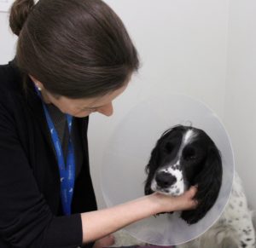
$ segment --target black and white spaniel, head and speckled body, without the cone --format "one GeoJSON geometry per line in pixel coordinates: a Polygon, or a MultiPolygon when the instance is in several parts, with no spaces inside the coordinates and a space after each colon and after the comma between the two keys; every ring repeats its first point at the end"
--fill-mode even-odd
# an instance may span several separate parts
{"type": "MultiPolygon", "coordinates": [[[[214,205],[223,172],[221,155],[212,139],[203,130],[183,125],[167,130],[160,137],[146,171],[145,194],[160,192],[175,196],[197,185],[198,207],[181,213],[189,224],[201,220],[214,205]]],[[[218,222],[200,238],[177,247],[255,247],[252,216],[237,175],[229,204],[218,222]]]]}

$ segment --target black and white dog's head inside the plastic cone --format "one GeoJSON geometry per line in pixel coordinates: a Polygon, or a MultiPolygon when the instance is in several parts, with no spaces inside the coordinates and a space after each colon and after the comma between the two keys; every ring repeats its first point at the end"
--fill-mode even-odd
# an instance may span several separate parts
{"type": "Polygon", "coordinates": [[[198,187],[195,210],[183,211],[189,224],[201,220],[215,203],[222,182],[222,162],[218,148],[203,130],[177,125],[157,141],[146,167],[145,194],[173,196],[190,186],[198,187]]]}

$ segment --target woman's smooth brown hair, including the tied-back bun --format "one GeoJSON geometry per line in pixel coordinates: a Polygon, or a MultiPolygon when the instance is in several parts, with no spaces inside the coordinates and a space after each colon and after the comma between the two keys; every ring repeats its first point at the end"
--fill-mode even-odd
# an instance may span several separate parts
{"type": "Polygon", "coordinates": [[[15,61],[55,95],[86,98],[122,87],[139,66],[117,14],[101,0],[16,0],[15,61]]]}

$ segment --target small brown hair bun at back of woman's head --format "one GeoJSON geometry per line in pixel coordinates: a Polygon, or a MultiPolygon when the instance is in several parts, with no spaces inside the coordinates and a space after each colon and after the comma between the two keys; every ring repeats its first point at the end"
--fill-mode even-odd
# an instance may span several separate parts
{"type": "Polygon", "coordinates": [[[10,9],[9,26],[19,36],[28,14],[34,6],[33,0],[16,0],[10,9]]]}

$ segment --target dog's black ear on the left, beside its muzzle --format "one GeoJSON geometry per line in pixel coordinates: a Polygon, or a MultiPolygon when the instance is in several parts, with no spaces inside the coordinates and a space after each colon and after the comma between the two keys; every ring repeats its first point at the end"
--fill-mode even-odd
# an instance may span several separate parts
{"type": "Polygon", "coordinates": [[[145,172],[148,175],[145,181],[145,187],[144,187],[145,194],[153,193],[153,191],[151,190],[151,182],[154,177],[154,171],[157,170],[157,165],[159,164],[159,157],[160,157],[158,143],[159,141],[157,142],[156,146],[152,150],[149,162],[145,167],[145,172]]]}

